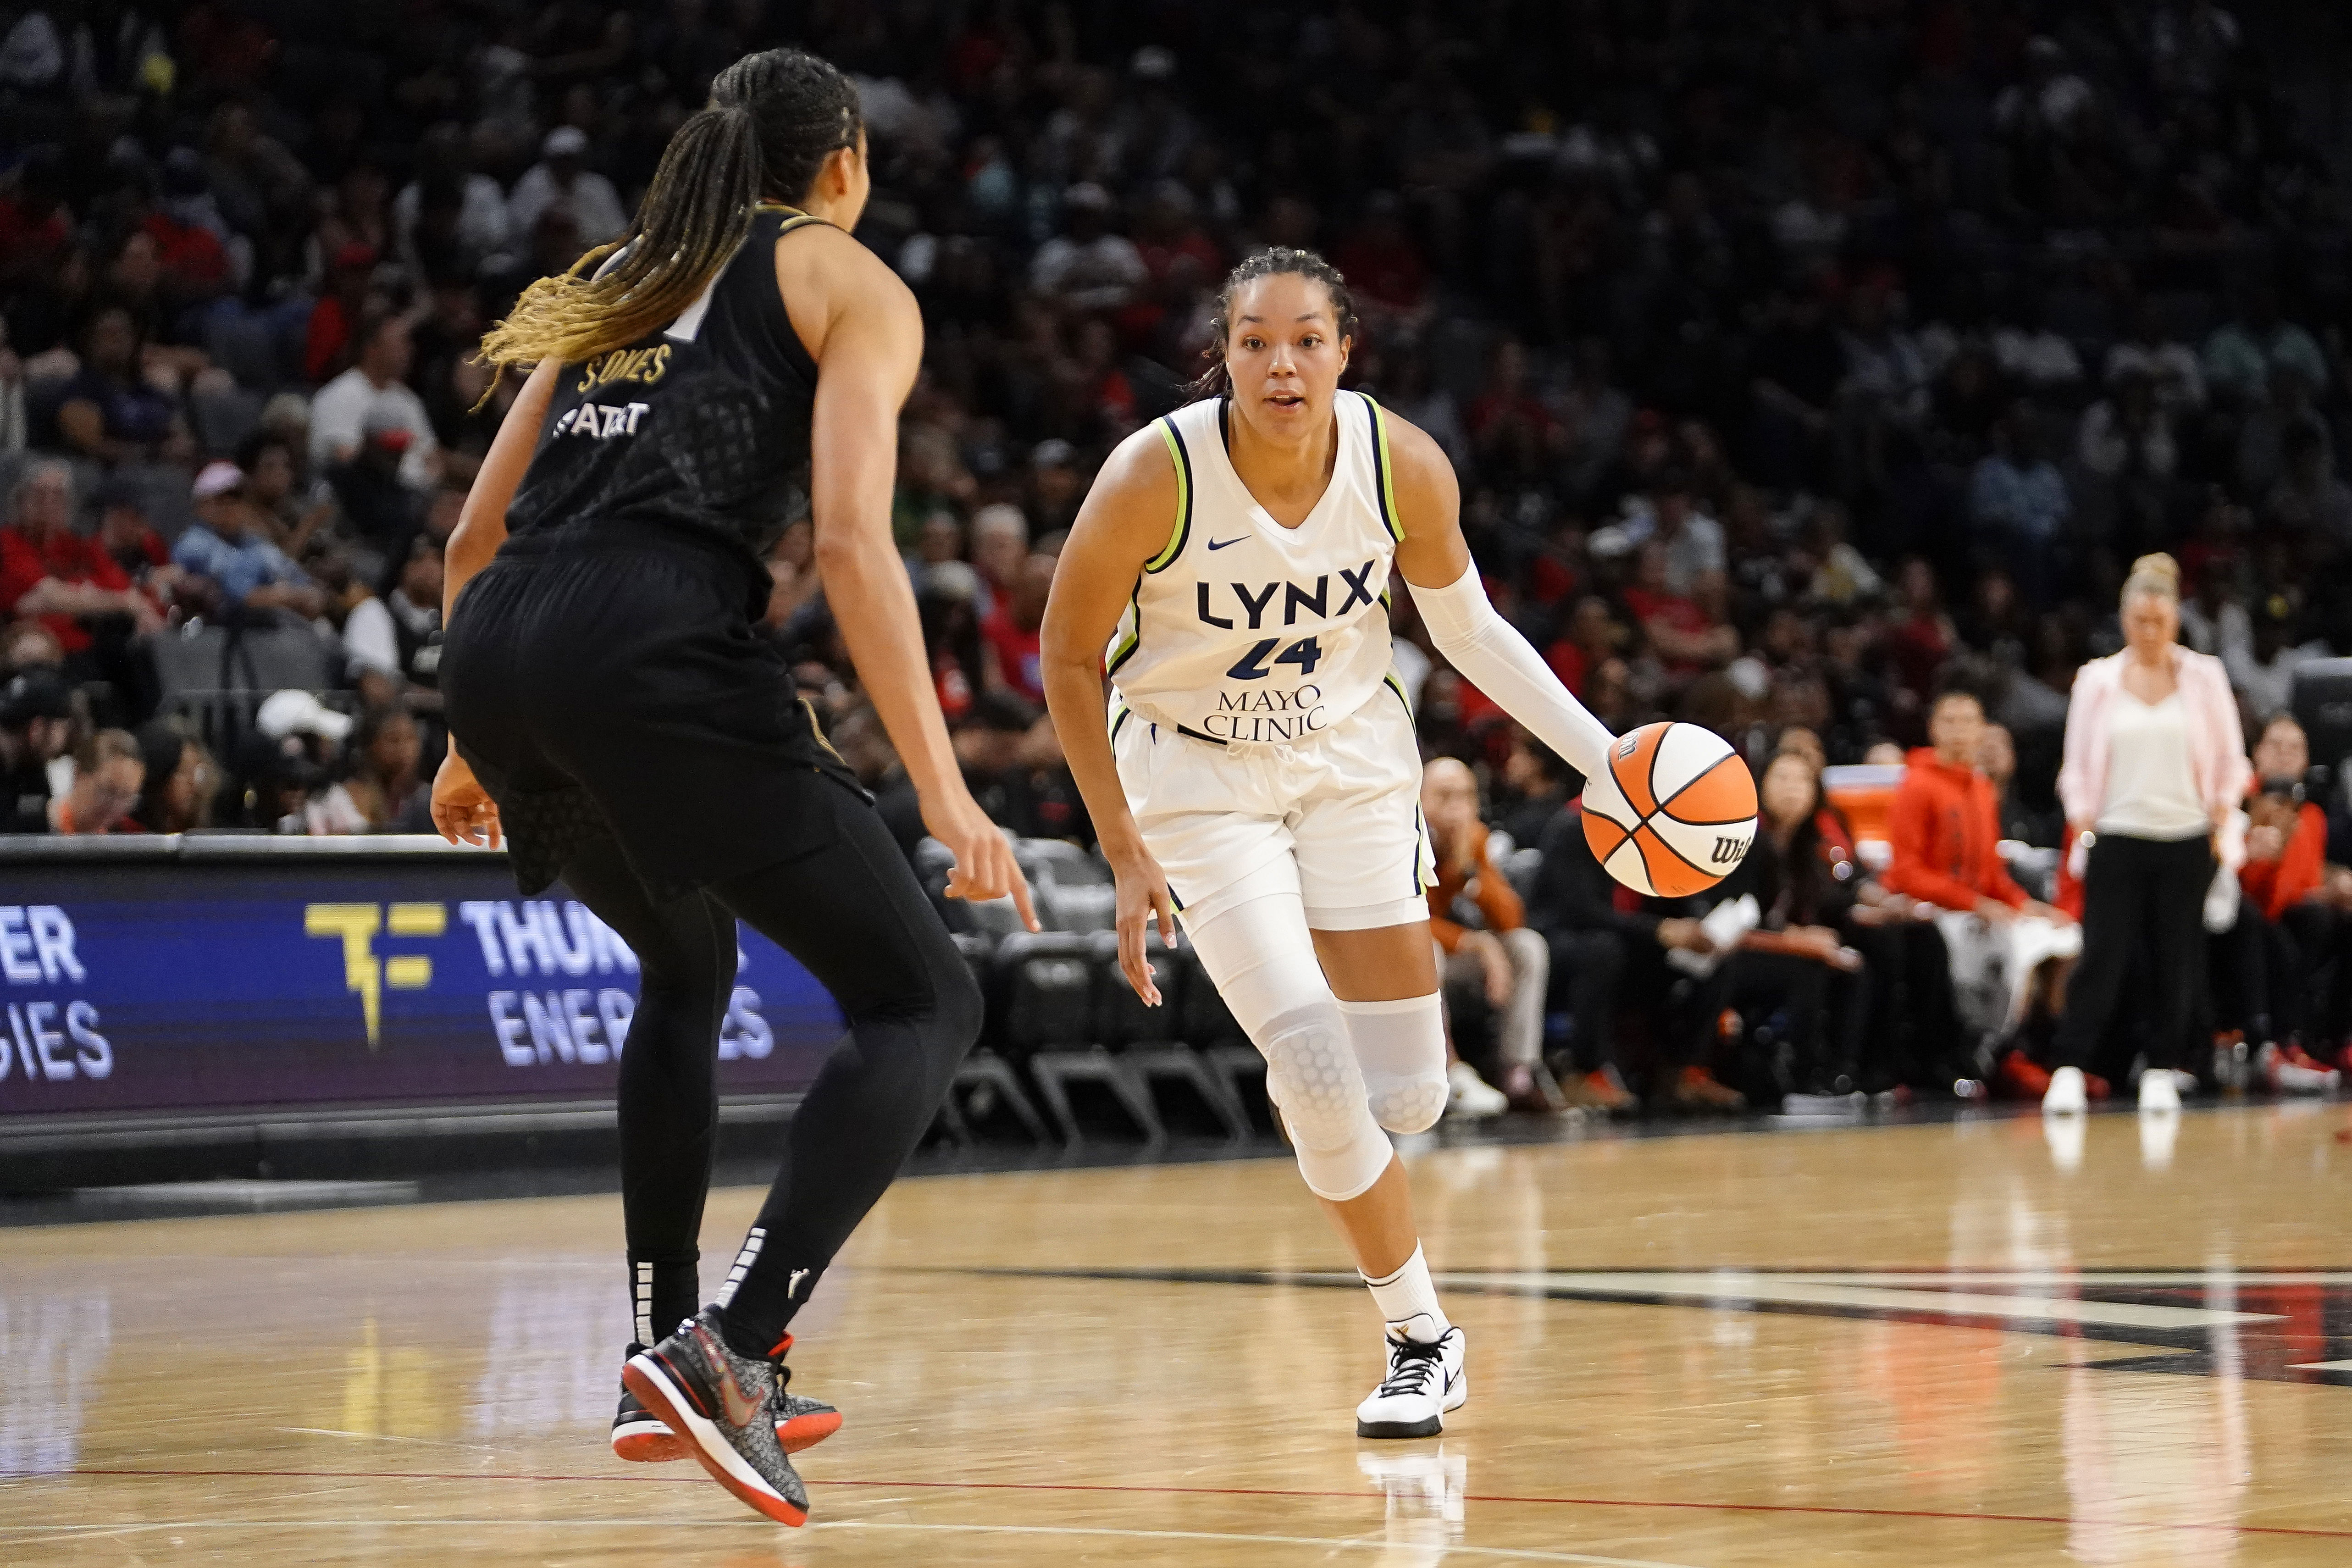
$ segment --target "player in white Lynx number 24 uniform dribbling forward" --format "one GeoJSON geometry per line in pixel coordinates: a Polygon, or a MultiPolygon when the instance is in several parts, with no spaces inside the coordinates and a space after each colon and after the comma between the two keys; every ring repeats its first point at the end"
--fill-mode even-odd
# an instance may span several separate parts
{"type": "Polygon", "coordinates": [[[1352,327],[1310,252],[1232,270],[1216,395],[1120,444],[1070,529],[1044,686],[1117,872],[1120,966],[1157,1004],[1143,931],[1174,943],[1181,914],[1388,1324],[1357,1434],[1430,1436],[1468,1380],[1385,1135],[1446,1103],[1392,576],[1454,668],[1585,776],[1611,733],[1486,602],[1437,442],[1338,388],[1352,327]]]}

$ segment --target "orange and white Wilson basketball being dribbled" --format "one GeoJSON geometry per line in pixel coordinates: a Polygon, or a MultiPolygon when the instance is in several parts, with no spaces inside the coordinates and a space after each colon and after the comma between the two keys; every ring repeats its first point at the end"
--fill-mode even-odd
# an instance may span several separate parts
{"type": "Polygon", "coordinates": [[[1635,893],[1684,898],[1731,875],[1757,837],[1757,780],[1712,729],[1644,724],[1585,783],[1585,844],[1635,893]]]}

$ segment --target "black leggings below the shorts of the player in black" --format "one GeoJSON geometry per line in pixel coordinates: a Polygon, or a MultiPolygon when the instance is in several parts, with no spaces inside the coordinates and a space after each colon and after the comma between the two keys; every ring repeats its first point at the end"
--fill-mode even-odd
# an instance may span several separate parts
{"type": "Polygon", "coordinates": [[[833,799],[830,844],[670,900],[644,889],[612,837],[564,860],[564,882],[640,964],[621,1051],[621,1206],[654,1335],[699,1305],[736,917],[800,959],[849,1020],[783,1133],[783,1168],[724,1293],[727,1340],[741,1354],[774,1354],[981,1032],[978,985],[882,820],[847,790],[821,799],[833,799]]]}

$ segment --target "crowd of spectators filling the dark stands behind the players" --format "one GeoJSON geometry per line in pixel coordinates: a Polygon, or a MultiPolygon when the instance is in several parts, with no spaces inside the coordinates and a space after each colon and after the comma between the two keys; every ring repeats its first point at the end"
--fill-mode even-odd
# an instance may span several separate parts
{"type": "MultiPolygon", "coordinates": [[[[1818,795],[1823,764],[1931,748],[1957,682],[1999,743],[1947,766],[2002,769],[2002,832],[2056,846],[2070,682],[2119,646],[2136,555],[2178,555],[2183,642],[2225,661],[2249,736],[2298,665],[2352,651],[2345,61],[2314,16],[0,5],[12,820],[421,825],[445,745],[440,548],[513,397],[470,346],[529,280],[626,230],[720,66],[800,42],[858,80],[858,233],[924,308],[894,527],[960,755],[1007,827],[1089,842],[1037,623],[1094,468],[1185,395],[1223,270],[1305,244],[1355,292],[1350,381],[1454,456],[1496,604],[1606,724],[1700,722],[1766,797],[1780,755],[1818,795]],[[191,661],[158,649],[207,635],[310,637],[322,677],[306,703],[198,701],[191,661]]],[[[807,524],[771,574],[769,632],[913,839],[807,524]]],[[[1428,651],[1409,607],[1397,630],[1425,755],[1465,764],[1519,846],[1548,844],[1576,780],[1428,651]]],[[[1820,860],[1813,816],[1773,820],[1766,863],[1820,860]]],[[[1613,1032],[1590,1020],[1703,938],[1569,860],[1545,856],[1526,900],[1541,952],[1479,940],[1465,907],[1451,969],[1508,1016],[1498,1072],[1524,1091],[1541,1063],[1505,980],[1548,959],[1545,1041],[1613,1105],[1613,1032]]],[[[1907,931],[1933,922],[1903,893],[1846,907],[1844,882],[1795,882],[1797,929],[1922,969],[1907,931]]],[[[1816,990],[1799,1016],[1863,994],[1816,990]]],[[[1891,1027],[1886,994],[1853,1006],[1891,1027]]],[[[1698,1098],[1684,1070],[1715,1027],[1656,1030],[1698,1098]]],[[[1886,1037],[1846,1027],[1813,1032],[1886,1037]]],[[[1851,1079],[1842,1051],[1813,1077],[1851,1079]]]]}

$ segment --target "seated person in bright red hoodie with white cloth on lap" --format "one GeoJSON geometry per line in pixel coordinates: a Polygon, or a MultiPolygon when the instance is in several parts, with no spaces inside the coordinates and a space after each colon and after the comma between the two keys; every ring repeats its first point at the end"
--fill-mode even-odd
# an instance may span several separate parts
{"type": "Polygon", "coordinates": [[[1973,691],[1943,691],[1926,733],[1931,745],[1905,759],[1886,813],[1893,863],[1879,882],[1936,905],[1962,1020],[1999,1053],[2002,1084],[2039,1098],[2049,1072],[2016,1039],[2027,1018],[2060,1013],[2067,971],[2082,957],[2082,926],[2027,896],[2002,863],[1999,802],[1976,766],[1983,701],[1973,691]]]}

